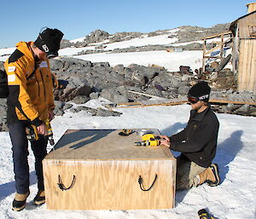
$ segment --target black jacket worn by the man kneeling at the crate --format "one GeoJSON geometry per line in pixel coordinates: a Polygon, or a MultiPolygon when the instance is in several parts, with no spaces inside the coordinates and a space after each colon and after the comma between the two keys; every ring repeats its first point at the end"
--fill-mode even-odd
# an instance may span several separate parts
{"type": "Polygon", "coordinates": [[[208,167],[216,154],[218,127],[218,118],[211,107],[200,113],[191,110],[186,128],[170,137],[171,149],[195,164],[208,167]]]}

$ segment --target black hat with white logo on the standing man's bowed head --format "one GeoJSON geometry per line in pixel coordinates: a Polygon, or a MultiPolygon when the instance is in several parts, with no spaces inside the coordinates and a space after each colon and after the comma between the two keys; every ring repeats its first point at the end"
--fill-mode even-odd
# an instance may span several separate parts
{"type": "Polygon", "coordinates": [[[58,29],[46,28],[41,32],[34,42],[38,49],[44,51],[48,57],[58,56],[58,50],[60,49],[61,38],[63,33],[58,29]]]}

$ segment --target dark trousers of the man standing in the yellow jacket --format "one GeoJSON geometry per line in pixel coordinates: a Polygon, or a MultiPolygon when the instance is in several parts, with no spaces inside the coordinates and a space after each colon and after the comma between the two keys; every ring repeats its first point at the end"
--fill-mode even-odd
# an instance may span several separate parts
{"type": "MultiPolygon", "coordinates": [[[[9,135],[12,141],[13,162],[15,170],[15,187],[17,193],[29,191],[29,166],[27,162],[28,141],[26,139],[26,124],[9,124],[9,135]]],[[[35,170],[38,176],[38,190],[44,190],[43,164],[42,160],[47,154],[47,139],[39,135],[38,141],[32,141],[32,152],[35,156],[35,170]]]]}

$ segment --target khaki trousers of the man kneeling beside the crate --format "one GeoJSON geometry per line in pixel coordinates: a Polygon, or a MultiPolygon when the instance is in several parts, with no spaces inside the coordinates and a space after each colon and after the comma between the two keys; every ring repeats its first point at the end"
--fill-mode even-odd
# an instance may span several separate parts
{"type": "Polygon", "coordinates": [[[176,190],[188,189],[197,187],[199,179],[196,177],[207,168],[189,161],[183,156],[177,157],[177,175],[176,175],[176,190]]]}

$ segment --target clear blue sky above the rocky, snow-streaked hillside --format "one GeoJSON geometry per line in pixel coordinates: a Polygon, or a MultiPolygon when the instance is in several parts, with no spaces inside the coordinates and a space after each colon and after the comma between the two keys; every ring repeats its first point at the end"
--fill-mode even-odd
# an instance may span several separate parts
{"type": "Polygon", "coordinates": [[[64,32],[64,38],[84,37],[96,29],[154,32],[178,26],[211,27],[247,14],[246,0],[16,0],[1,1],[0,48],[34,41],[41,28],[64,32]]]}

